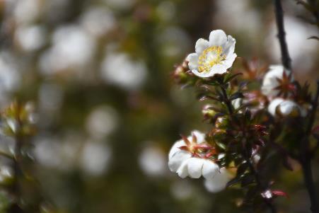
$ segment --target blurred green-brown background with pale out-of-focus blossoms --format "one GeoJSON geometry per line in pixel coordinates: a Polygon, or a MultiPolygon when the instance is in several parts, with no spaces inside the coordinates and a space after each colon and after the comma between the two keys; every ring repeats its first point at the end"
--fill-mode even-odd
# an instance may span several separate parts
{"type": "MultiPolygon", "coordinates": [[[[219,28],[236,38],[239,57],[280,63],[271,3],[0,0],[0,107],[18,98],[37,108],[33,175],[45,199],[59,212],[240,212],[239,191],[212,194],[168,171],[179,134],[209,127],[195,92],[171,72],[219,28]]],[[[296,1],[283,3],[296,79],[313,83],[319,42],[307,38],[318,28],[296,1]]],[[[295,167],[278,174],[290,196],[277,200],[282,212],[308,207],[295,167]]]]}

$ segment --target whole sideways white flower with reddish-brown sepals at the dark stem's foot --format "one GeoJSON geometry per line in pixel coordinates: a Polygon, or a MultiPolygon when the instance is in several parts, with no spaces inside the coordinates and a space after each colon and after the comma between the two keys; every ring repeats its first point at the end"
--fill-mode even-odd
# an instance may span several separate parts
{"type": "Polygon", "coordinates": [[[282,65],[272,65],[262,81],[262,93],[268,97],[276,97],[279,93],[289,91],[293,81],[291,71],[286,70],[282,65]]]}

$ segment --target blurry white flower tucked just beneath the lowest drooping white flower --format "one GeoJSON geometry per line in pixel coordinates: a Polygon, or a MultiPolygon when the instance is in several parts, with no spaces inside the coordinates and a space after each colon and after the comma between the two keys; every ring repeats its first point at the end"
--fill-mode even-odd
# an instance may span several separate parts
{"type": "Polygon", "coordinates": [[[226,188],[226,184],[231,180],[231,175],[226,168],[221,168],[214,178],[207,178],[204,182],[205,188],[209,192],[220,192],[226,188]]]}

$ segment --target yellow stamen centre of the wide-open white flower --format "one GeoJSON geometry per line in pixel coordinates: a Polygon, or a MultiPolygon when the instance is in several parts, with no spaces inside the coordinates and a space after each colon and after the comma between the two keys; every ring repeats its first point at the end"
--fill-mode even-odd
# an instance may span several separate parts
{"type": "Polygon", "coordinates": [[[198,59],[198,71],[208,72],[211,67],[216,64],[221,64],[226,59],[223,54],[223,47],[213,46],[205,49],[198,59]]]}

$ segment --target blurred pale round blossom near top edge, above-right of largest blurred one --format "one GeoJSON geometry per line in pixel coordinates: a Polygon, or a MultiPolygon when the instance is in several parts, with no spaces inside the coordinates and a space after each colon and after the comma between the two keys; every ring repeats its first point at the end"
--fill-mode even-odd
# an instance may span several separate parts
{"type": "Polygon", "coordinates": [[[89,8],[81,16],[83,27],[92,35],[100,37],[115,27],[116,21],[112,11],[108,8],[89,8]]]}

